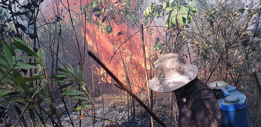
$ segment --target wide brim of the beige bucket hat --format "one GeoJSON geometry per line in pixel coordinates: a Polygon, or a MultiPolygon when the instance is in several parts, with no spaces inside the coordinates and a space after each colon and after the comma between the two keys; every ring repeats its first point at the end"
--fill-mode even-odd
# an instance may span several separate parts
{"type": "Polygon", "coordinates": [[[168,93],[185,86],[198,76],[198,67],[191,64],[185,64],[186,70],[184,73],[178,77],[168,80],[159,80],[152,78],[149,80],[149,88],[153,91],[160,93],[168,93]]]}

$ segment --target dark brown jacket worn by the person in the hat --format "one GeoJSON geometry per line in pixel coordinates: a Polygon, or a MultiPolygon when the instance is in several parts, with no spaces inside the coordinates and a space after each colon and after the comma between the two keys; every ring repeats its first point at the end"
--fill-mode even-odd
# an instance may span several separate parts
{"type": "Polygon", "coordinates": [[[181,93],[179,90],[175,92],[179,108],[178,126],[221,127],[223,117],[214,93],[208,89],[199,90],[192,96],[191,108],[189,108],[187,102],[183,102],[182,98],[186,98],[186,92],[190,87],[191,83],[184,86],[184,88],[180,88],[181,93]]]}

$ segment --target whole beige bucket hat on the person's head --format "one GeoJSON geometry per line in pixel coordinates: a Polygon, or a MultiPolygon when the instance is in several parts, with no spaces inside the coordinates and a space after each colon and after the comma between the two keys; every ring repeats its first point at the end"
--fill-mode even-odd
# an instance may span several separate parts
{"type": "Polygon", "coordinates": [[[155,62],[156,76],[149,80],[153,91],[167,93],[185,86],[198,76],[198,67],[185,64],[175,53],[161,56],[155,62]]]}

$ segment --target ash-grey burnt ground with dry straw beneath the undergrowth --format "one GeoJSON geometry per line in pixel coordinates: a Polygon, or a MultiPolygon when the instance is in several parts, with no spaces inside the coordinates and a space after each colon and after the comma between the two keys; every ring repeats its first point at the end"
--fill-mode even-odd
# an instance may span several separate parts
{"type": "MultiPolygon", "coordinates": [[[[147,96],[144,94],[138,95],[138,97],[141,99],[141,101],[146,102],[147,104],[147,96]]],[[[133,105],[130,101],[130,97],[127,98],[127,95],[115,95],[115,94],[106,94],[103,95],[104,99],[104,109],[102,105],[102,99],[101,97],[98,97],[95,99],[94,107],[95,107],[95,114],[96,119],[95,123],[93,124],[93,117],[91,107],[85,108],[81,110],[81,113],[78,112],[71,112],[74,108],[73,103],[70,103],[70,99],[66,98],[69,114],[67,114],[64,111],[64,105],[61,101],[61,99],[57,99],[57,107],[58,107],[58,113],[60,115],[61,125],[64,127],[72,127],[77,126],[79,127],[80,122],[82,127],[101,127],[101,126],[110,126],[110,127],[149,127],[150,126],[150,114],[145,111],[143,107],[137,101],[135,101],[135,117],[133,118],[133,105]],[[129,101],[128,101],[129,98],[129,101]],[[129,103],[128,103],[129,102],[129,103]],[[81,120],[76,120],[80,114],[85,113],[85,117],[83,117],[81,120]],[[103,112],[104,112],[104,119],[103,118],[103,112]],[[104,122],[104,124],[103,124],[104,122]],[[73,125],[72,125],[73,123],[73,125]]],[[[171,113],[171,107],[170,107],[170,94],[169,93],[160,93],[155,95],[154,98],[154,105],[153,105],[153,112],[156,114],[156,116],[161,119],[166,126],[168,127],[176,127],[177,126],[177,116],[178,116],[178,109],[176,107],[175,101],[173,101],[173,108],[171,113]]],[[[252,105],[251,97],[249,97],[249,104],[252,105]]],[[[17,105],[16,103],[9,103],[9,117],[7,119],[4,119],[3,123],[0,124],[0,126],[7,127],[8,125],[14,125],[18,115],[17,112],[14,109],[14,105],[17,105]]],[[[3,107],[6,107],[6,105],[2,105],[3,107]]],[[[50,112],[48,105],[42,105],[44,109],[48,112],[50,112]]],[[[251,117],[251,123],[253,126],[261,126],[261,119],[255,110],[256,105],[254,106],[248,106],[250,109],[250,117],[251,117]]],[[[258,107],[258,106],[257,106],[258,107]]],[[[260,108],[260,107],[259,107],[260,108]]],[[[44,115],[44,113],[43,113],[44,115]]],[[[43,116],[44,119],[47,119],[48,117],[46,115],[43,116]]],[[[30,118],[28,113],[25,113],[25,119],[28,126],[32,126],[30,118]]],[[[57,118],[54,116],[54,119],[57,120],[57,118]]],[[[37,120],[37,119],[36,119],[37,120]]],[[[37,126],[41,126],[39,121],[37,122],[37,126]]],[[[18,124],[19,126],[23,126],[21,120],[18,124]]],[[[50,120],[50,118],[45,123],[46,126],[52,127],[54,126],[50,120]]],[[[154,120],[154,126],[160,127],[161,125],[158,124],[154,120]]]]}

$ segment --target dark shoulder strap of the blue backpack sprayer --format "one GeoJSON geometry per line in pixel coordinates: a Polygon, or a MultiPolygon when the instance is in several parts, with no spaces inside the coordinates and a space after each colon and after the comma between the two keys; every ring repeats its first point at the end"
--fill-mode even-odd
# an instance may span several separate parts
{"type": "Polygon", "coordinates": [[[216,96],[217,98],[217,93],[216,91],[210,89],[207,85],[205,85],[203,82],[201,83],[195,83],[188,91],[187,93],[187,106],[188,108],[191,108],[192,104],[191,104],[191,99],[192,97],[199,91],[199,90],[204,90],[204,89],[208,89],[208,90],[211,90],[214,95],[216,96]]]}

